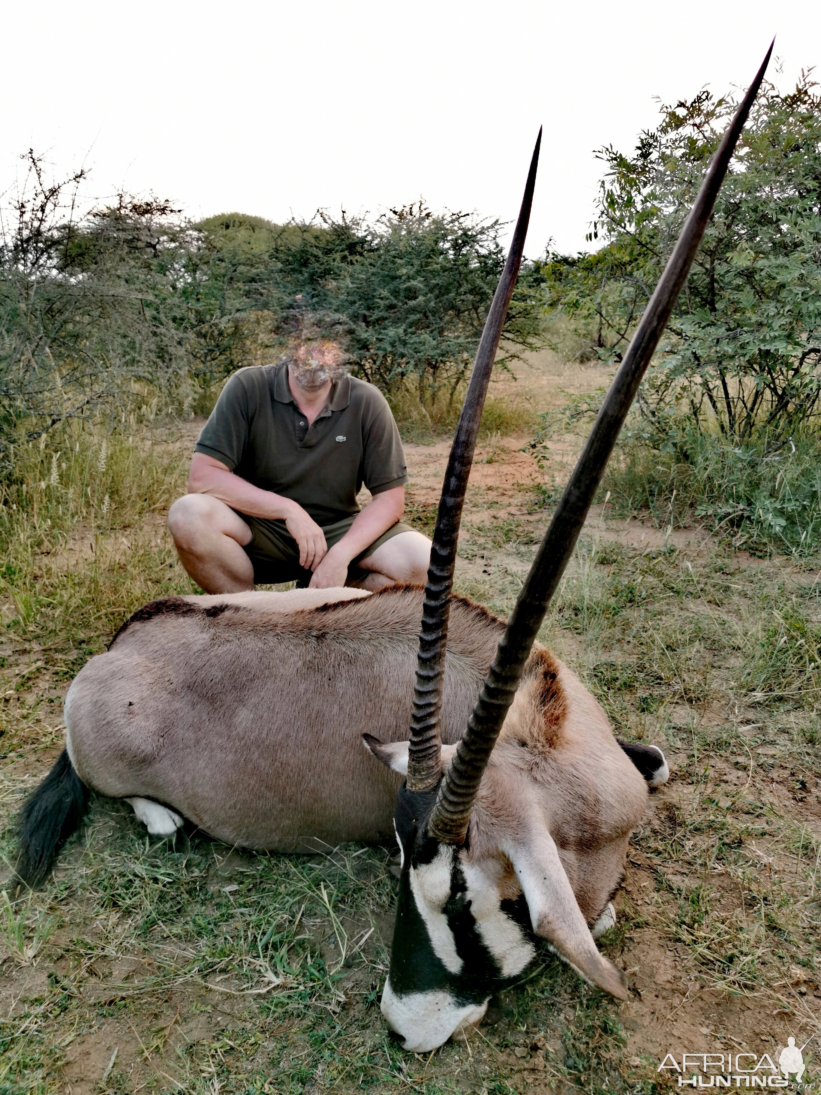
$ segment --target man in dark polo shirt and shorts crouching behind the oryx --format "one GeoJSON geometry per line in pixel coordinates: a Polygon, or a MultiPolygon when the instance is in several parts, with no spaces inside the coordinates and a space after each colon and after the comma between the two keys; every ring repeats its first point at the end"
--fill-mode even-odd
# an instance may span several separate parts
{"type": "Polygon", "coordinates": [[[180,560],[207,592],[426,580],[430,541],[400,520],[407,470],[393,415],[342,362],[334,342],[297,341],[286,361],[226,384],[189,493],[169,511],[180,560]],[[373,497],[360,510],[362,483],[373,497]]]}

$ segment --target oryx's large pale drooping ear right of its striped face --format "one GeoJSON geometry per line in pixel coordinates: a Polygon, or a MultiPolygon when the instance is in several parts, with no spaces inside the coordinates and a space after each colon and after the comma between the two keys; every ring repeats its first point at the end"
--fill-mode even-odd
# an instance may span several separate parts
{"type": "Polygon", "coordinates": [[[577,972],[618,1000],[627,999],[624,973],[599,954],[581,914],[558,851],[546,827],[527,844],[508,850],[536,935],[547,940],[577,972]]]}

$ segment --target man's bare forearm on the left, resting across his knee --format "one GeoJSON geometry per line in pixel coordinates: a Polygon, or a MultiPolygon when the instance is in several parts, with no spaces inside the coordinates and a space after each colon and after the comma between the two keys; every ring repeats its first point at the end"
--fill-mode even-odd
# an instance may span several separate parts
{"type": "MultiPolygon", "coordinates": [[[[273,491],[261,491],[259,487],[239,475],[234,475],[226,464],[205,452],[195,452],[192,457],[188,494],[210,494],[213,498],[224,502],[232,509],[239,510],[240,514],[247,514],[248,517],[266,517],[269,520],[285,521],[286,528],[299,545],[299,565],[305,569],[315,570],[325,557],[327,552],[325,534],[299,503],[274,494],[273,491]]],[[[389,527],[385,526],[385,528],[389,527]]],[[[348,535],[352,531],[354,527],[351,526],[348,535]]],[[[362,546],[367,548],[368,543],[372,543],[384,531],[385,529],[382,529],[362,546]]],[[[360,548],[359,551],[361,550],[360,548]]],[[[358,553],[354,552],[354,555],[358,553]]],[[[354,555],[350,557],[352,558],[354,555]]],[[[342,585],[345,583],[343,581],[342,585]]]]}

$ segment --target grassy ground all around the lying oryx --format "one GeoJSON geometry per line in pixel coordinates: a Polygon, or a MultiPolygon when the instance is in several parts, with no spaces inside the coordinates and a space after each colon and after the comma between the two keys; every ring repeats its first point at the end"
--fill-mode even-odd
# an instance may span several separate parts
{"type": "MultiPolygon", "coordinates": [[[[59,749],[68,681],[140,603],[193,589],[162,527],[188,442],[114,436],[102,460],[101,437],[77,440],[56,484],[65,441],[22,452],[26,489],[0,509],[7,861],[14,814],[59,749]]],[[[506,613],[547,514],[494,516],[487,500],[469,496],[458,588],[506,613]]],[[[433,507],[414,505],[428,528],[433,507]]],[[[821,586],[784,560],[591,533],[542,637],[620,735],[672,760],[601,944],[632,970],[629,1004],[543,947],[470,1046],[404,1053],[379,1013],[393,849],[273,856],[196,833],[171,846],[95,798],[44,889],[0,903],[0,1092],[650,1095],[666,1086],[658,1054],[632,1038],[635,1024],[637,1037],[656,1029],[641,1008],[659,992],[654,1022],[670,1039],[678,1016],[759,1051],[775,1048],[768,1036],[806,1040],[821,995],[821,586]],[[669,988],[644,972],[659,953],[669,988]]]]}

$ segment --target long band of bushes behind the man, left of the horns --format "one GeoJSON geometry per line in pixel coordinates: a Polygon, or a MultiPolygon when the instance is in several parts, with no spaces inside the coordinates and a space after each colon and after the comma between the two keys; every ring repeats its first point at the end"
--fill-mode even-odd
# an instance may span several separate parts
{"type": "MultiPolygon", "coordinates": [[[[14,474],[14,446],[76,418],[208,411],[235,369],[276,359],[303,309],[389,393],[413,382],[419,401],[444,391],[450,405],[470,370],[505,261],[499,221],[419,203],[373,222],[192,224],[124,195],[80,216],[84,172],[48,182],[27,162],[0,234],[0,474],[14,474]]],[[[539,344],[537,285],[525,269],[508,357],[539,344]]]]}

